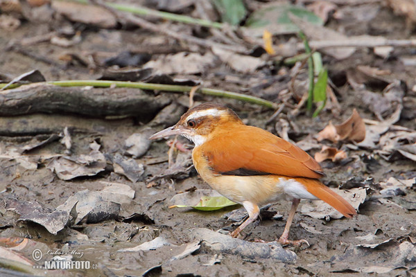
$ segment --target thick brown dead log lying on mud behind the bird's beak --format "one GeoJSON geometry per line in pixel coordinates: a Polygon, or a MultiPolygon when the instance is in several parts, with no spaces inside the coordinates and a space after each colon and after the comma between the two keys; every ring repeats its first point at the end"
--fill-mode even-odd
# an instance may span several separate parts
{"type": "Polygon", "coordinates": [[[139,89],[58,87],[34,83],[0,91],[0,116],[33,113],[81,114],[85,116],[146,116],[169,104],[139,89]]]}

